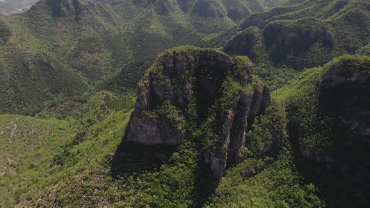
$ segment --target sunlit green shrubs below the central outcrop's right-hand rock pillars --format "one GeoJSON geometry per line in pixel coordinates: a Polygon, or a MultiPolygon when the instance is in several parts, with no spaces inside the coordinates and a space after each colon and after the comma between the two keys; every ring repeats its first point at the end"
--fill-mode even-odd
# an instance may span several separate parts
{"type": "Polygon", "coordinates": [[[246,159],[230,168],[209,207],[325,207],[314,184],[303,184],[291,145],[276,157],[246,159]]]}

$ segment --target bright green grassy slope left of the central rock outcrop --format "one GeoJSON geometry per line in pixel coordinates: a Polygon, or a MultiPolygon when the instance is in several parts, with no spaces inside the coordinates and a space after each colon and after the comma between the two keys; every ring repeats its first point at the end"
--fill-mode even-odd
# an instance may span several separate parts
{"type": "Polygon", "coordinates": [[[0,205],[48,196],[54,186],[84,173],[107,173],[107,159],[129,122],[131,102],[99,92],[82,103],[63,101],[36,118],[2,115],[0,205]],[[53,118],[64,111],[68,111],[67,118],[53,118]]]}

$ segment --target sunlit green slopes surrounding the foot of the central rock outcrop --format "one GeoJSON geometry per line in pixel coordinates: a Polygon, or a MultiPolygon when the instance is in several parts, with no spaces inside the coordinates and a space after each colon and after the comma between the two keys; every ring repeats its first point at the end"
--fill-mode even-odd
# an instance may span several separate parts
{"type": "MultiPolygon", "coordinates": [[[[323,123],[311,116],[319,115],[315,92],[322,74],[323,69],[309,69],[296,83],[273,94],[286,102],[289,126],[292,122],[308,125],[303,128],[306,135],[323,123]],[[300,116],[294,116],[294,107],[300,116]]],[[[281,107],[273,105],[259,116],[251,137],[264,139],[263,129],[275,126],[270,116],[284,114],[281,107]]],[[[258,157],[258,144],[248,147],[248,158],[216,181],[203,163],[199,131],[176,148],[122,141],[131,108],[127,98],[99,92],[88,101],[75,98],[54,103],[36,118],[1,116],[2,155],[6,155],[1,161],[1,205],[321,207],[338,202],[348,205],[356,198],[353,191],[360,190],[350,188],[343,175],[333,177],[330,171],[315,179],[315,173],[301,166],[295,154],[293,132],[289,132],[293,140],[274,153],[258,157]],[[335,180],[325,179],[330,175],[335,180]]],[[[317,148],[315,142],[321,140],[310,138],[300,140],[317,148]]],[[[328,146],[322,143],[321,148],[323,144],[328,146]]],[[[356,166],[357,157],[351,158],[348,162],[356,166]]],[[[305,164],[317,167],[309,161],[305,164]]]]}

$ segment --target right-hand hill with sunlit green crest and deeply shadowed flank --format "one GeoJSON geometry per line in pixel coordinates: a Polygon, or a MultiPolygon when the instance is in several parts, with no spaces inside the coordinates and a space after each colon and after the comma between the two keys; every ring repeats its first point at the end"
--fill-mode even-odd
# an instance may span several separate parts
{"type": "Polygon", "coordinates": [[[369,205],[370,57],[345,55],[274,92],[307,180],[330,207],[369,205]]]}

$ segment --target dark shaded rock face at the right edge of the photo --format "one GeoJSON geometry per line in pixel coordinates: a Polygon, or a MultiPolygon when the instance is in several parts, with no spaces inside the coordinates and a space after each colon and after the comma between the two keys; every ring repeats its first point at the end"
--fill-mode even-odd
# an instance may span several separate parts
{"type": "Polygon", "coordinates": [[[330,66],[323,75],[320,87],[323,92],[345,101],[335,105],[346,109],[338,112],[337,116],[348,136],[370,144],[370,66],[351,62],[353,60],[330,66]],[[345,98],[351,100],[346,101],[345,98]]]}

